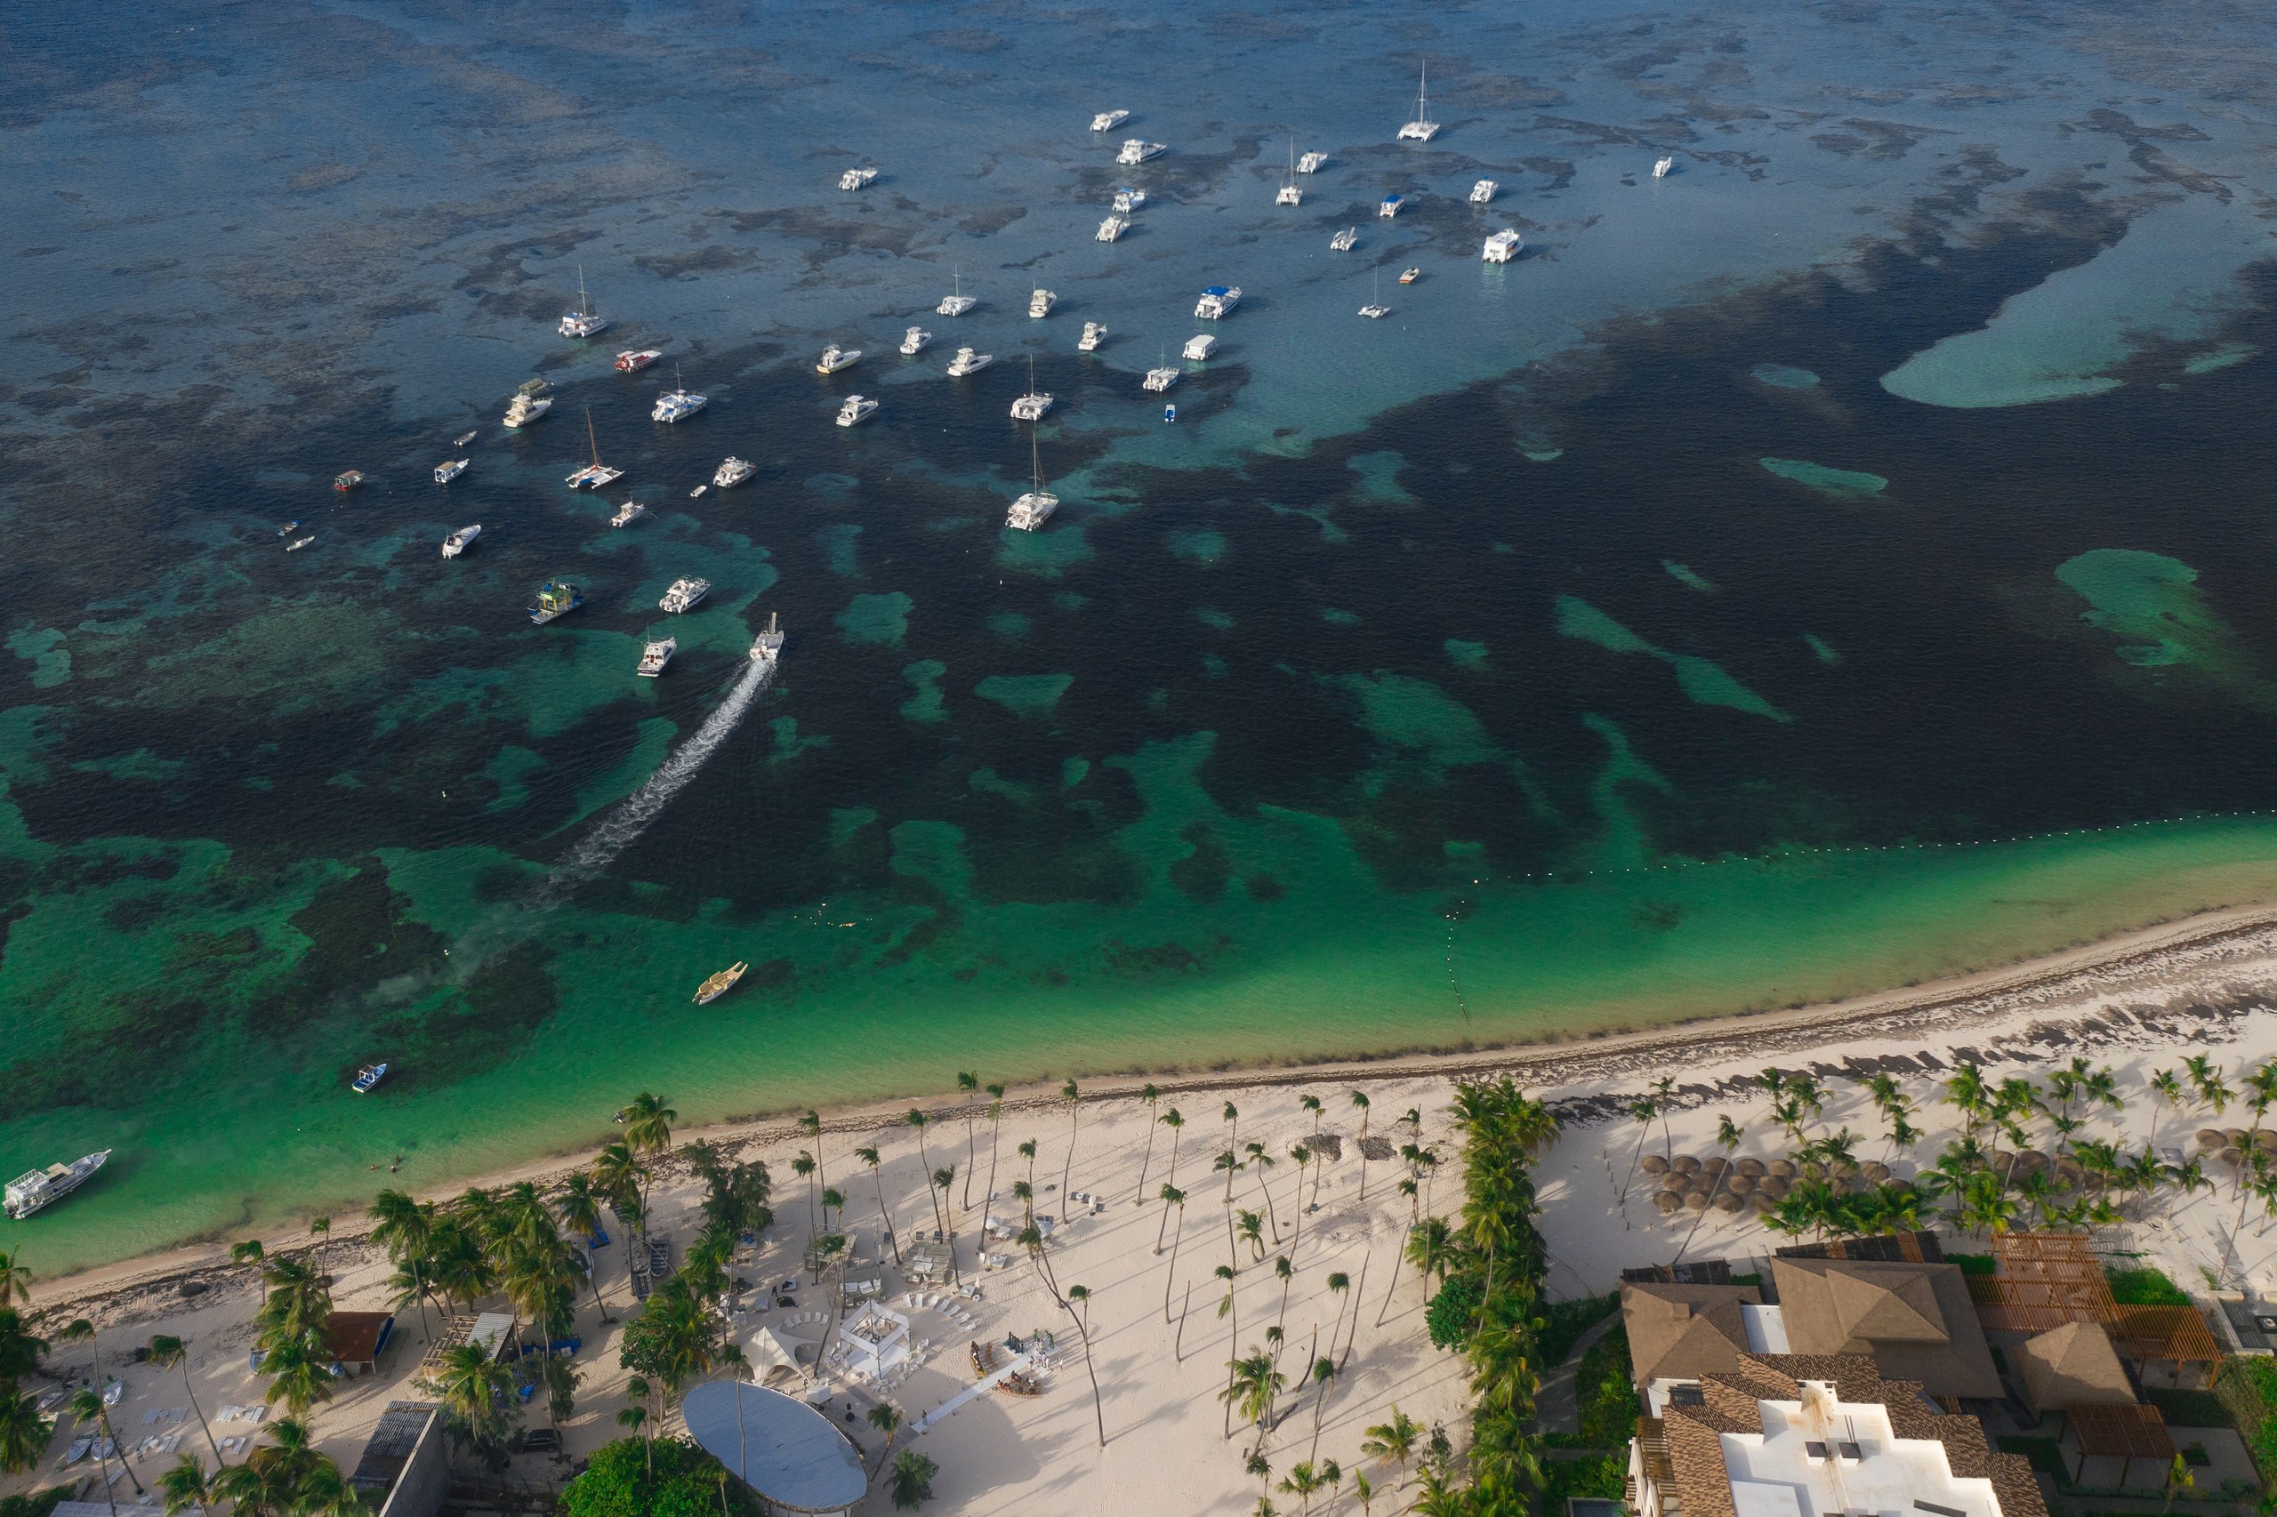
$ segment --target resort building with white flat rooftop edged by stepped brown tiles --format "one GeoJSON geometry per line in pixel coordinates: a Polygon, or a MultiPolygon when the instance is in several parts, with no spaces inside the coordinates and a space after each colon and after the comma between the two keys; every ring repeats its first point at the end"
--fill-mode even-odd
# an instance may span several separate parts
{"type": "Polygon", "coordinates": [[[1938,1412],[1865,1355],[1742,1353],[1644,1417],[1630,1444],[1635,1517],[2047,1517],[2022,1456],[1974,1417],[1938,1412]]]}

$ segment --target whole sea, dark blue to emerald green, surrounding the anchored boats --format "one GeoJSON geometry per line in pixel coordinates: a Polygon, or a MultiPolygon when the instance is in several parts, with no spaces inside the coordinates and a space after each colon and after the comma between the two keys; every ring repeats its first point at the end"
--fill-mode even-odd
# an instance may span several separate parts
{"type": "Polygon", "coordinates": [[[1571,1036],[2277,895],[2236,815],[2272,339],[2222,198],[2263,130],[2079,105],[2145,89],[2093,20],[1956,14],[2031,89],[1781,7],[1457,20],[14,32],[0,1168],[116,1157],[0,1239],[52,1271],[446,1184],[640,1086],[701,1121],[1571,1036]],[[1102,55],[1173,144],[1138,171],[1082,130],[1102,55]],[[1446,130],[1396,148],[1425,55],[1446,130]],[[1298,214],[1291,130],[1332,155],[1298,214]],[[1528,255],[1487,266],[1501,223],[1528,255]],[[553,337],[581,266],[594,344],[553,337]],[[1136,378],[1205,282],[1248,296],[1164,426],[1136,378]],[[710,408],[647,421],[669,378],[619,342],[710,408]],[[868,358],[820,378],[824,342],[868,358]],[[1004,362],[952,385],[956,342],[1004,362]],[[1029,353],[1036,535],[997,526],[1029,353]],[[531,371],[556,417],[508,435],[531,371]],[[856,387],[881,415],[833,428],[856,387]],[[606,497],[560,483],[587,410],[606,497]],[[690,497],[729,451],[754,481],[690,497]],[[533,629],[553,576],[585,608],[533,629]]]}

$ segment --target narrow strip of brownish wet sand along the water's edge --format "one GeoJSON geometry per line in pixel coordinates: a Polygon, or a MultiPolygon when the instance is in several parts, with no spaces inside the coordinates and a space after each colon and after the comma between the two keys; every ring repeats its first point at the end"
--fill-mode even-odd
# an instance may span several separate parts
{"type": "MultiPolygon", "coordinates": [[[[2225,970],[2236,973],[2247,966],[2277,970],[2277,907],[2220,907],[2052,954],[1803,1007],[1692,1016],[1639,1030],[1592,1030],[1564,1039],[1505,1046],[1362,1052],[1287,1064],[1227,1064],[1207,1071],[1113,1071],[1102,1075],[1077,1071],[1075,1080],[1077,1084],[1102,1082],[1082,1089],[1079,1100],[1086,1107],[1132,1100],[1143,1084],[1154,1084],[1166,1098],[1302,1084],[1364,1086],[1416,1077],[1460,1082],[1498,1075],[1512,1075],[1530,1089],[1569,1089],[1621,1080],[1639,1071],[1696,1068],[1731,1059],[1742,1048],[1753,1050],[1751,1057],[1760,1055],[1772,1061],[1781,1052],[1822,1046],[1835,1032],[1844,1039],[1890,1039],[1924,1027],[1951,1034],[1976,1020],[2013,1016],[2022,1007],[2047,1002],[2049,1009],[2056,1009],[2056,1002],[2065,998],[2113,995],[2131,986],[2145,1000],[2218,998],[2225,993],[2225,970]],[[1683,1064],[1671,1064],[1671,1055],[1683,1055],[1683,1064]],[[1555,1080],[1546,1080],[1553,1071],[1555,1080]]],[[[822,1114],[822,1125],[824,1132],[833,1134],[877,1132],[899,1123],[911,1109],[922,1109],[929,1121],[961,1121],[972,1105],[972,1100],[947,1098],[938,1089],[902,1093],[833,1107],[822,1114]]],[[[1050,1082],[1016,1084],[1004,1096],[1006,1114],[1054,1105],[1063,1105],[1063,1096],[1050,1082]]],[[[731,1148],[781,1143],[795,1132],[790,1116],[790,1112],[733,1116],[685,1128],[676,1132],[676,1141],[710,1141],[731,1148]]],[[[587,1162],[594,1148],[597,1143],[558,1148],[524,1164],[462,1175],[446,1187],[424,1187],[424,1194],[444,1198],[469,1184],[549,1182],[587,1162]]],[[[669,1162],[665,1168],[674,1166],[676,1162],[669,1162]]],[[[148,1301],[180,1292],[182,1282],[189,1280],[212,1289],[237,1276],[250,1278],[246,1266],[230,1260],[230,1248],[257,1237],[271,1257],[310,1250],[317,1241],[305,1232],[305,1219],[307,1214],[296,1216],[303,1223],[298,1232],[246,1228],[225,1237],[41,1278],[32,1287],[32,1314],[41,1319],[89,1303],[148,1301]]],[[[321,1244],[337,1250],[360,1244],[364,1232],[364,1225],[337,1225],[321,1244]]],[[[16,1246],[23,1248],[27,1241],[34,1239],[16,1239],[16,1246]]]]}

